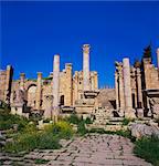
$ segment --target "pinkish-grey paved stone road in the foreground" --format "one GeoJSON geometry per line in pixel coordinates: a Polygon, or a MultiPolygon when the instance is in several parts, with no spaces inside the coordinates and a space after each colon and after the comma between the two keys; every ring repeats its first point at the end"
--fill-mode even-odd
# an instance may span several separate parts
{"type": "MultiPolygon", "coordinates": [[[[63,142],[56,151],[34,151],[25,155],[24,166],[33,166],[34,159],[49,159],[43,166],[151,166],[132,154],[132,143],[117,135],[92,134],[72,142],[63,142]]],[[[23,165],[19,160],[19,165],[23,165]]]]}

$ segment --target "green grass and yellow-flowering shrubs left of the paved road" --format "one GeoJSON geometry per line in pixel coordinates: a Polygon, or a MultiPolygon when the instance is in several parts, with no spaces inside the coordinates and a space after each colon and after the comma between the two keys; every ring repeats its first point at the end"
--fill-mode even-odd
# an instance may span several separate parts
{"type": "Polygon", "coordinates": [[[74,132],[67,122],[50,124],[44,131],[38,131],[35,125],[26,125],[21,132],[13,136],[13,142],[7,143],[4,151],[17,154],[19,152],[31,152],[38,149],[60,148],[60,139],[68,139],[74,132]]]}

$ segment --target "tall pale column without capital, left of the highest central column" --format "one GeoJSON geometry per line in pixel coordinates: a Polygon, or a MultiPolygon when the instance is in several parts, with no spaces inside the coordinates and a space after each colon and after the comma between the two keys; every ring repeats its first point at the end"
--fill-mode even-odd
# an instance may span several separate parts
{"type": "Polygon", "coordinates": [[[60,55],[54,55],[53,62],[53,120],[57,122],[60,111],[60,55]]]}

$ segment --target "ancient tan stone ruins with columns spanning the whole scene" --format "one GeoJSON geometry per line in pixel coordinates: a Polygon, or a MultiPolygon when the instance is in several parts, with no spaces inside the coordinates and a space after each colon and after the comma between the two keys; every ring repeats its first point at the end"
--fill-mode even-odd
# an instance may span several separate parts
{"type": "Polygon", "coordinates": [[[97,71],[89,71],[91,45],[82,49],[83,70],[74,73],[71,63],[60,71],[59,54],[54,55],[53,72],[47,77],[38,72],[36,80],[26,79],[24,73],[13,80],[13,68],[8,65],[0,71],[0,100],[10,105],[12,114],[29,117],[40,113],[54,121],[72,114],[99,124],[113,117],[159,117],[159,49],[157,68],[147,50],[141,62],[134,65],[128,58],[116,62],[115,89],[98,89],[97,71]]]}

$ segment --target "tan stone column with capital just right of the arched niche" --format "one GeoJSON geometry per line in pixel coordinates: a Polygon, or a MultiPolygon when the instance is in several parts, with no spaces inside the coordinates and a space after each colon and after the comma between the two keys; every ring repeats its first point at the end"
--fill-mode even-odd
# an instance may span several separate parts
{"type": "Polygon", "coordinates": [[[41,97],[42,97],[42,73],[38,72],[36,81],[36,95],[35,95],[35,110],[41,108],[41,97]]]}

